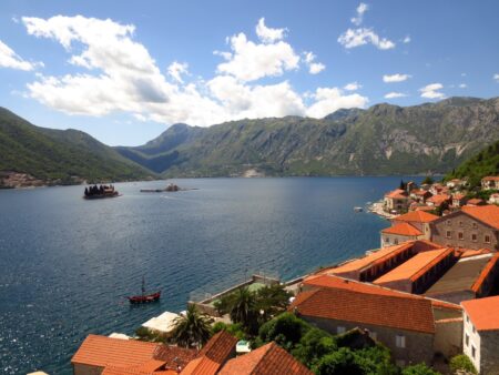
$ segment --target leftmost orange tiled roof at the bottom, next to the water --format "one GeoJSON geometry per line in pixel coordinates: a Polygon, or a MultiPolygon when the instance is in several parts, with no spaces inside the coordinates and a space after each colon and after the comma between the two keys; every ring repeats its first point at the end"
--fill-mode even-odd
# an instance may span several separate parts
{"type": "Polygon", "coordinates": [[[133,366],[153,358],[157,344],[134,339],[89,335],[71,358],[71,363],[92,366],[133,366]]]}

